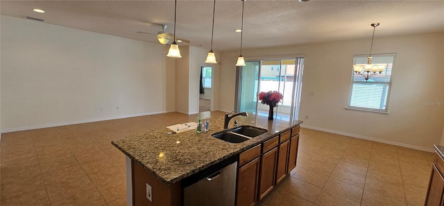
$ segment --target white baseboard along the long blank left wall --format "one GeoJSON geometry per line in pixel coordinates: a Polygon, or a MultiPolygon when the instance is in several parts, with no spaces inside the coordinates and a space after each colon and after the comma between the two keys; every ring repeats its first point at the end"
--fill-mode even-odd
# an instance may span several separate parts
{"type": "Polygon", "coordinates": [[[106,120],[119,120],[124,118],[135,118],[139,116],[145,116],[145,115],[157,115],[160,113],[170,113],[175,111],[159,111],[159,112],[150,112],[150,113],[139,113],[136,115],[123,115],[119,117],[111,117],[111,118],[95,118],[95,119],[89,119],[89,120],[78,120],[73,122],[61,122],[61,123],[53,123],[53,124],[40,124],[30,127],[17,127],[12,129],[2,129],[1,133],[8,133],[8,132],[15,132],[15,131],[25,131],[30,129],[42,129],[47,127],[60,127],[60,126],[66,126],[70,124],[83,124],[83,123],[90,123],[90,122],[100,122],[100,121],[106,121],[106,120]]]}

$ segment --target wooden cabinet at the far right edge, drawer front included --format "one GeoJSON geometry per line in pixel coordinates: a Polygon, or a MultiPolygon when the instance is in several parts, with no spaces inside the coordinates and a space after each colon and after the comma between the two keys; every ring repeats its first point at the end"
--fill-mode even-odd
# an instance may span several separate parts
{"type": "Polygon", "coordinates": [[[432,174],[430,175],[429,188],[427,189],[427,196],[425,198],[425,205],[444,205],[444,160],[441,156],[434,158],[434,165],[432,166],[432,174]]]}

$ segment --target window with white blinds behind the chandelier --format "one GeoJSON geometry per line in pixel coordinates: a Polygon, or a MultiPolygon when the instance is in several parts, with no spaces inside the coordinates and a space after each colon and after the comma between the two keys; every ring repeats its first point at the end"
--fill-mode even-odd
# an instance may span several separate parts
{"type": "MultiPolygon", "coordinates": [[[[372,64],[384,65],[382,73],[368,81],[352,70],[352,84],[348,98],[348,109],[387,112],[388,95],[391,88],[391,71],[396,54],[372,55],[372,64]]],[[[355,55],[353,64],[367,64],[367,55],[355,55]]]]}

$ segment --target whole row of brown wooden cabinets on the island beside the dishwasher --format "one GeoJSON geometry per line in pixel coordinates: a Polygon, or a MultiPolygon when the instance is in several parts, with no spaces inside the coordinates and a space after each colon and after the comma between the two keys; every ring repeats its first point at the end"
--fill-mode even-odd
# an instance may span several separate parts
{"type": "Polygon", "coordinates": [[[296,167],[298,133],[299,126],[239,155],[237,206],[255,205],[296,167]]]}

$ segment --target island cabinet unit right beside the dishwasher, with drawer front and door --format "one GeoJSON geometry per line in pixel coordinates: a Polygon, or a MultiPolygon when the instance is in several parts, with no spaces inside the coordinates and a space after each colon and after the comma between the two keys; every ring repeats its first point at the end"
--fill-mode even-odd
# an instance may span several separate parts
{"type": "Polygon", "coordinates": [[[248,149],[239,155],[237,171],[236,205],[255,205],[259,186],[259,163],[261,145],[248,149]]]}

